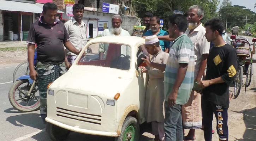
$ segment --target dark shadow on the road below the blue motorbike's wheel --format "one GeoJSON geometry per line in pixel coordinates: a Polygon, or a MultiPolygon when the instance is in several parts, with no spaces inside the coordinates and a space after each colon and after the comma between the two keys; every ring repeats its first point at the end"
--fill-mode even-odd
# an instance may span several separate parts
{"type": "Polygon", "coordinates": [[[6,118],[6,121],[18,127],[29,126],[37,129],[45,128],[45,124],[43,124],[40,114],[36,113],[10,116],[6,118]]]}

